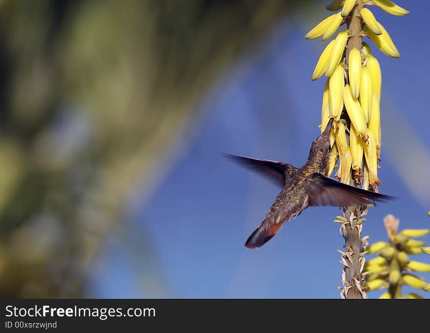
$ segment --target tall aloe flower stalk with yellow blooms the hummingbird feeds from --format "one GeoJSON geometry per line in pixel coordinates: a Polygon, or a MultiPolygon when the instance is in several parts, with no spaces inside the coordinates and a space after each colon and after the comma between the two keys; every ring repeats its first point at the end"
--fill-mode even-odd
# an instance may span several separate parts
{"type": "MultiPolygon", "coordinates": [[[[315,26],[305,38],[322,36],[323,40],[335,34],[337,28],[346,24],[346,29],[331,41],[320,57],[312,80],[323,76],[328,79],[324,88],[321,131],[328,118],[334,118],[330,138],[332,153],[326,176],[334,171],[339,159],[335,177],[341,182],[378,192],[381,181],[378,178],[378,161],[381,151],[381,69],[370,46],[363,42],[369,38],[383,53],[400,58],[387,30],[378,22],[369,6],[379,6],[396,16],[408,15],[409,11],[388,0],[335,0],[326,8],[339,11],[315,26]],[[353,135],[354,137],[351,137],[353,135]],[[333,148],[334,147],[334,148],[333,148]]],[[[363,218],[371,205],[343,207],[341,235],[345,240],[342,253],[343,287],[342,298],[367,298],[363,267],[366,252],[366,238],[361,238],[363,218]]],[[[387,253],[388,255],[389,253],[387,253]]],[[[392,271],[396,271],[393,264],[392,271]]],[[[397,270],[399,267],[396,268],[397,270]]],[[[399,281],[398,273],[392,273],[391,281],[399,281]]],[[[406,280],[410,280],[406,278],[406,280]]],[[[385,286],[383,281],[379,287],[385,286]]],[[[375,286],[375,283],[372,283],[375,286]]],[[[378,285],[378,283],[376,283],[378,285]]]]}

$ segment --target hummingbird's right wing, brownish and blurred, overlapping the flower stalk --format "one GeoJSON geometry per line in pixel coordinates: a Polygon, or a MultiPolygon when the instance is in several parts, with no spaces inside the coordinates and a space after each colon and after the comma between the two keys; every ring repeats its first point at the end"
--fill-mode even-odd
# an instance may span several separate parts
{"type": "Polygon", "coordinates": [[[385,202],[396,199],[341,183],[319,173],[314,173],[307,178],[304,187],[308,195],[309,206],[351,207],[365,205],[369,201],[385,202]]]}

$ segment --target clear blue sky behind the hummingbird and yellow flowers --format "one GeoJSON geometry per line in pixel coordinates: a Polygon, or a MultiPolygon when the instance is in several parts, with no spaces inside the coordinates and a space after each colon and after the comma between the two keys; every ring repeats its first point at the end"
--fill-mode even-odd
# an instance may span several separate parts
{"type": "MultiPolygon", "coordinates": [[[[407,17],[371,8],[402,55],[388,58],[369,43],[383,74],[380,192],[400,198],[369,210],[363,236],[371,242],[386,240],[387,214],[400,218],[401,228],[430,227],[430,176],[420,172],[428,167],[422,153],[430,154],[430,5],[403,6],[411,12],[407,17]],[[401,167],[398,152],[409,170],[401,167]],[[410,183],[421,184],[420,190],[411,190],[410,183]]],[[[323,19],[329,12],[322,4],[316,15],[323,19]]],[[[219,154],[304,163],[319,134],[324,80],[310,77],[325,43],[303,35],[318,22],[280,22],[202,96],[201,116],[191,124],[193,140],[150,200],[130,205],[129,237],[151,247],[151,255],[142,260],[110,240],[89,281],[94,297],[339,297],[342,265],[335,251],[344,240],[332,222],[338,208],[308,208],[269,243],[247,249],[245,240],[279,189],[219,154]]],[[[430,256],[420,260],[430,262],[430,256]]]]}

